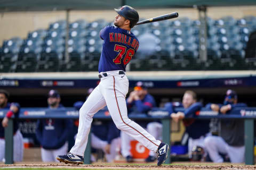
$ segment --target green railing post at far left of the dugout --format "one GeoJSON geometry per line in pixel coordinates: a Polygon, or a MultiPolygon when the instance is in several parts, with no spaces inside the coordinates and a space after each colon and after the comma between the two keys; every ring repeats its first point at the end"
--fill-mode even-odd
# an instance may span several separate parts
{"type": "Polygon", "coordinates": [[[13,164],[13,119],[9,118],[8,126],[4,128],[5,164],[13,164]]]}

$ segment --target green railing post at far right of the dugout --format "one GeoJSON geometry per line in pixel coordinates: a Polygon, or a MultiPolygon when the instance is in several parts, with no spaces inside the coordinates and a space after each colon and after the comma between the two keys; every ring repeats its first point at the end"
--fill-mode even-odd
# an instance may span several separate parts
{"type": "Polygon", "coordinates": [[[254,119],[244,120],[245,164],[254,165],[254,119]]]}

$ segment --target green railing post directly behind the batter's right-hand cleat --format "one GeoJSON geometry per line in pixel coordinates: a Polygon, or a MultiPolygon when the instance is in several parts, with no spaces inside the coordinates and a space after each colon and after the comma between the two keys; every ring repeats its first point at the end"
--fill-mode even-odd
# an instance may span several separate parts
{"type": "Polygon", "coordinates": [[[167,143],[170,146],[170,152],[168,158],[165,160],[165,164],[171,164],[171,135],[170,135],[170,118],[163,118],[163,142],[167,143]]]}

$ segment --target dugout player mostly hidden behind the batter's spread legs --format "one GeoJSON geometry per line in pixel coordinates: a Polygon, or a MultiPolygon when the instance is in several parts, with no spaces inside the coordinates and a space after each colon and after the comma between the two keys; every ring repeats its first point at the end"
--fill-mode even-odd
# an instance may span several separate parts
{"type": "MultiPolygon", "coordinates": [[[[90,88],[87,93],[90,95],[92,91],[93,88],[90,88]]],[[[83,101],[77,101],[73,106],[79,111],[83,104],[83,101]]],[[[107,107],[103,109],[107,110],[107,107]]],[[[119,137],[120,130],[116,128],[113,121],[93,120],[91,125],[91,147],[101,149],[108,163],[114,162],[115,160],[118,146],[120,146],[121,143],[119,137]]],[[[91,155],[91,162],[96,162],[93,155],[91,155]]]]}

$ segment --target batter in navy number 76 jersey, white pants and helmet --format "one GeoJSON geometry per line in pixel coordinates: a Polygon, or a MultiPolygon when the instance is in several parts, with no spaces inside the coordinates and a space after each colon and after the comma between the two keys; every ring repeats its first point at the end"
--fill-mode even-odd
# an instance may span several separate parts
{"type": "Polygon", "coordinates": [[[125,101],[129,89],[125,67],[139,48],[139,41],[131,32],[131,28],[139,21],[139,14],[127,5],[115,11],[117,12],[115,26],[107,26],[100,31],[100,38],[103,39],[99,61],[100,83],[79,110],[75,145],[67,155],[59,155],[56,159],[64,163],[83,164],[93,115],[107,105],[117,128],[154,151],[158,157],[157,165],[159,166],[166,160],[169,146],[156,140],[140,125],[128,118],[125,101]]]}

